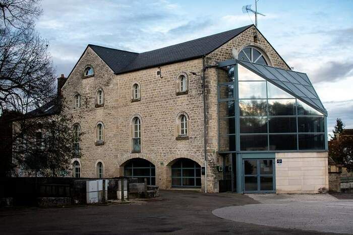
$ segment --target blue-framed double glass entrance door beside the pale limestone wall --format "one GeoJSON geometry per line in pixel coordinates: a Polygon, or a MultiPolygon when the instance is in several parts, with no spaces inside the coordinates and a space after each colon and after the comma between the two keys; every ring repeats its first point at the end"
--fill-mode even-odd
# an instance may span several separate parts
{"type": "Polygon", "coordinates": [[[275,192],[273,159],[244,159],[243,172],[245,193],[275,192]]]}

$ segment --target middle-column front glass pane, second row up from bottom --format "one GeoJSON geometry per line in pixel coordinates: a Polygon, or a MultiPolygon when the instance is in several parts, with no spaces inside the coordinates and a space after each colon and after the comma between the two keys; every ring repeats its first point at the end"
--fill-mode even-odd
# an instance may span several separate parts
{"type": "Polygon", "coordinates": [[[297,118],[269,117],[268,128],[270,133],[297,132],[297,118]]]}

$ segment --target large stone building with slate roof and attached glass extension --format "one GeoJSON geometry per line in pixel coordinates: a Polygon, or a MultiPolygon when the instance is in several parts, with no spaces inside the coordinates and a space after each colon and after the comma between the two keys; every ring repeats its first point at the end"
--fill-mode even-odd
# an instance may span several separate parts
{"type": "Polygon", "coordinates": [[[328,187],[327,112],[254,25],[143,53],[88,45],[61,93],[84,133],[75,177],[207,192],[328,187]]]}

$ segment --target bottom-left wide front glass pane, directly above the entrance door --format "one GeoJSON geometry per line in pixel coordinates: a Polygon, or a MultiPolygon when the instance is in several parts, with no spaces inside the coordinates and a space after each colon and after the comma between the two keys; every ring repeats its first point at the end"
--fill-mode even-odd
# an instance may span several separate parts
{"type": "Polygon", "coordinates": [[[267,135],[241,135],[240,150],[255,151],[268,150],[267,135]]]}

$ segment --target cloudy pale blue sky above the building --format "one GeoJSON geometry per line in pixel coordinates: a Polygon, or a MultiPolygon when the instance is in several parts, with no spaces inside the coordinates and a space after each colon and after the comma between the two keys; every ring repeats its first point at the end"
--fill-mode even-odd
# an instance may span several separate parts
{"type": "MultiPolygon", "coordinates": [[[[144,52],[250,25],[253,0],[42,0],[36,28],[57,75],[73,69],[87,44],[144,52]]],[[[328,111],[353,128],[353,1],[260,0],[258,28],[294,70],[306,72],[328,111]]]]}

